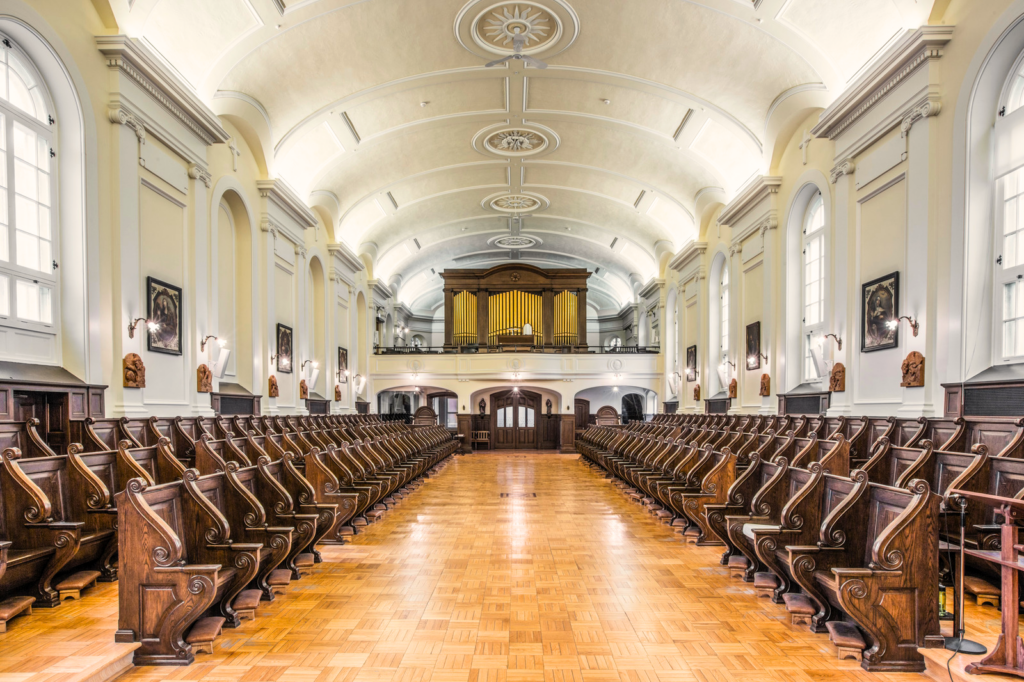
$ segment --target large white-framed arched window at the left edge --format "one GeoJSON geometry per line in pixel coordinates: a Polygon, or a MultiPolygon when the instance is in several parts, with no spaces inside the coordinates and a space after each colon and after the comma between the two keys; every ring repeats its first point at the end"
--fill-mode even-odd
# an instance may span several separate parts
{"type": "MultiPolygon", "coordinates": [[[[0,36],[0,38],[3,38],[0,36]]],[[[57,333],[55,130],[32,62],[0,42],[0,325],[57,333]]]]}

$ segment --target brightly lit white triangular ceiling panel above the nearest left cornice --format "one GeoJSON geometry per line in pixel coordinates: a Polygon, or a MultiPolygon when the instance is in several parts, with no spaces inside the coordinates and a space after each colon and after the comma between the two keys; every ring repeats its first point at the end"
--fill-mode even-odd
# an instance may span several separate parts
{"type": "Polygon", "coordinates": [[[248,0],[163,0],[141,36],[197,87],[228,45],[260,26],[248,0]]]}

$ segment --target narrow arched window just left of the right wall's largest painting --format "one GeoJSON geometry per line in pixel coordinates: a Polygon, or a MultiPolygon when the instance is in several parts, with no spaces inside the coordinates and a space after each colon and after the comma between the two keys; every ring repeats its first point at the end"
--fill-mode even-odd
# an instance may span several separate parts
{"type": "Polygon", "coordinates": [[[803,228],[803,381],[820,379],[812,351],[818,348],[818,339],[824,333],[825,301],[825,207],[821,193],[814,195],[804,212],[803,228]]]}

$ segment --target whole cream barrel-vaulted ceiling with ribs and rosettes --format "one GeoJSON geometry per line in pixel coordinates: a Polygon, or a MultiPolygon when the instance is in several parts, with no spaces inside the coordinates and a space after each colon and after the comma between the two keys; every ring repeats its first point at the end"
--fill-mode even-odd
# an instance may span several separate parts
{"type": "Polygon", "coordinates": [[[111,4],[414,310],[515,256],[608,312],[932,0],[111,4]]]}

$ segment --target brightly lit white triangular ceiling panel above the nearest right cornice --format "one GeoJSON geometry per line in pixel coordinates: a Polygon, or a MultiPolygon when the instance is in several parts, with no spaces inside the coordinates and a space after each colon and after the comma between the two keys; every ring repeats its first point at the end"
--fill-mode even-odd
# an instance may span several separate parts
{"type": "MultiPolygon", "coordinates": [[[[913,28],[927,17],[926,12],[914,19],[913,28]]],[[[779,19],[814,43],[847,80],[890,38],[909,28],[893,0],[791,0],[779,19]]]]}

